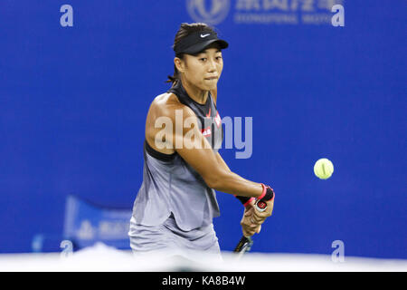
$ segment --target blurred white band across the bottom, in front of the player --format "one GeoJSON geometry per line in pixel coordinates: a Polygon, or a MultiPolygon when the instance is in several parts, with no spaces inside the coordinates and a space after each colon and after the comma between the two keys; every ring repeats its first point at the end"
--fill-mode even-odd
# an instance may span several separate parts
{"type": "Polygon", "coordinates": [[[189,269],[213,272],[407,272],[407,260],[388,260],[345,256],[345,262],[333,262],[328,255],[246,253],[240,260],[231,252],[222,253],[223,261],[196,255],[192,262],[163,256],[135,257],[130,251],[97,245],[72,256],[52,254],[3,254],[0,271],[168,271],[189,269]]]}

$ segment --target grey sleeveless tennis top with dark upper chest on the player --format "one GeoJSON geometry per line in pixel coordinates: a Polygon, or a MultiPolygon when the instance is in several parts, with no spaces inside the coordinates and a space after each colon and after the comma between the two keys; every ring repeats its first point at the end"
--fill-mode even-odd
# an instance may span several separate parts
{"type": "MultiPolygon", "coordinates": [[[[194,111],[200,130],[216,153],[222,144],[223,131],[211,94],[205,104],[194,102],[181,82],[176,82],[168,92],[194,111]]],[[[215,191],[204,179],[176,152],[163,154],[145,140],[143,183],[134,202],[133,218],[139,225],[157,226],[171,213],[176,225],[185,231],[210,225],[220,215],[215,191]]]]}

